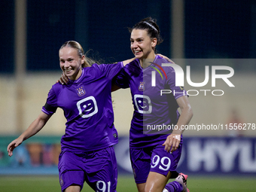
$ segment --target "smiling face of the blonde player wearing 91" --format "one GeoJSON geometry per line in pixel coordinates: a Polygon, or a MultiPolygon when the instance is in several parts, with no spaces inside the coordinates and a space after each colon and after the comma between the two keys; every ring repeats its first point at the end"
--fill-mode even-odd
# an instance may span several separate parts
{"type": "Polygon", "coordinates": [[[78,56],[78,50],[72,47],[62,47],[59,50],[59,66],[70,80],[77,80],[82,73],[84,56],[78,56]]]}

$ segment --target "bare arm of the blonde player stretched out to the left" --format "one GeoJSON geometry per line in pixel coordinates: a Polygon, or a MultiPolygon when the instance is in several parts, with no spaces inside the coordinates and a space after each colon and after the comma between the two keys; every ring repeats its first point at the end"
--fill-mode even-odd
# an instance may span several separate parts
{"type": "Polygon", "coordinates": [[[36,133],[38,133],[38,131],[40,131],[41,128],[43,128],[43,126],[45,125],[45,123],[47,123],[50,117],[51,115],[45,114],[41,111],[38,117],[29,125],[28,129],[8,145],[8,155],[11,157],[13,155],[14,148],[17,148],[17,146],[22,144],[23,141],[29,139],[29,137],[34,136],[36,133]]]}

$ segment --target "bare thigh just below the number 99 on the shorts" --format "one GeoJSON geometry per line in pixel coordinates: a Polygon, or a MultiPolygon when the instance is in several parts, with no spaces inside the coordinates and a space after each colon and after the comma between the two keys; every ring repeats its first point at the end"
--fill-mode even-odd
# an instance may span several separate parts
{"type": "Polygon", "coordinates": [[[148,179],[145,184],[145,192],[162,192],[170,175],[170,172],[167,175],[162,175],[158,172],[149,172],[148,179]]]}

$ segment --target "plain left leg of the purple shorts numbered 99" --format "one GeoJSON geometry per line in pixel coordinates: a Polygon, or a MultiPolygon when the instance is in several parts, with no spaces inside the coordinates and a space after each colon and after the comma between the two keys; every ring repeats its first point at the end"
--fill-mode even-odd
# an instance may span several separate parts
{"type": "MultiPolygon", "coordinates": [[[[130,160],[136,184],[143,186],[151,169],[151,152],[153,148],[130,148],[130,160]]],[[[138,185],[137,185],[138,187],[138,185]]],[[[139,187],[142,188],[142,187],[139,187]]]]}

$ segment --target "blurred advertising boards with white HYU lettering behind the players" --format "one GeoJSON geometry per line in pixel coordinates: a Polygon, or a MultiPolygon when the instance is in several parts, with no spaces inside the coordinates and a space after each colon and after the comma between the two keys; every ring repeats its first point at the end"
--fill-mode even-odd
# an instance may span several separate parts
{"type": "MultiPolygon", "coordinates": [[[[2,146],[11,139],[14,136],[0,137],[0,175],[58,174],[60,137],[35,136],[20,145],[10,158],[2,146]]],[[[118,173],[133,174],[129,137],[121,136],[114,151],[118,173]]],[[[177,171],[190,175],[256,175],[256,139],[184,137],[177,171]]]]}

